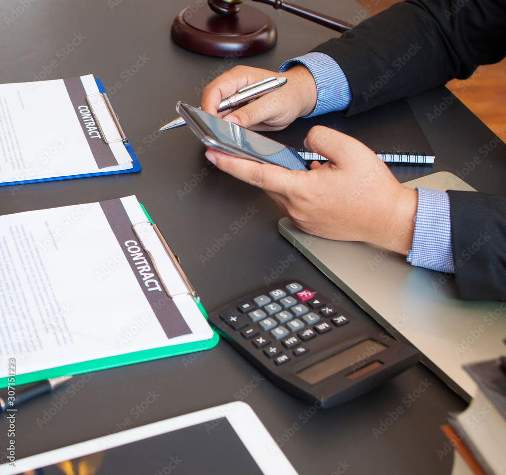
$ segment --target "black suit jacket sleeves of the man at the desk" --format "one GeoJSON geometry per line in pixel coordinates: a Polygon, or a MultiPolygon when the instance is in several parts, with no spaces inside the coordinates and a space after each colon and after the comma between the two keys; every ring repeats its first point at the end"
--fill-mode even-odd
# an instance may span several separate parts
{"type": "MultiPolygon", "coordinates": [[[[346,74],[351,115],[500,61],[506,0],[406,0],[313,51],[332,57],[346,74]]],[[[506,197],[448,193],[459,297],[506,299],[506,197]]]]}

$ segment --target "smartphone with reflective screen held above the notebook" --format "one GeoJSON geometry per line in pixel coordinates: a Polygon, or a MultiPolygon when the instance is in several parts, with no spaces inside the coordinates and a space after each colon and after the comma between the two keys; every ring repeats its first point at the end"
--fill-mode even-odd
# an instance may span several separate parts
{"type": "Polygon", "coordinates": [[[309,168],[297,150],[220,117],[178,102],[176,110],[195,135],[209,148],[241,159],[279,165],[289,170],[309,168]]]}

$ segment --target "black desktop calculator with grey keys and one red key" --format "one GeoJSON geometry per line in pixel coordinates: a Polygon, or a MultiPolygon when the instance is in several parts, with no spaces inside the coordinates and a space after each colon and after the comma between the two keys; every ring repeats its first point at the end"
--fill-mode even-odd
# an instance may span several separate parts
{"type": "Polygon", "coordinates": [[[299,280],[246,295],[210,313],[209,322],[276,385],[325,408],[419,360],[418,350],[367,327],[299,280]]]}

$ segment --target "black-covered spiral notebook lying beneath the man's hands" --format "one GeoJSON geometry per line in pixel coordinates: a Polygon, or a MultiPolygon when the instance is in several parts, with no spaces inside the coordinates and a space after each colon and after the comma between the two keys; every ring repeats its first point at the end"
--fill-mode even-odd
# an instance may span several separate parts
{"type": "Polygon", "coordinates": [[[330,112],[316,117],[300,118],[286,129],[266,135],[300,150],[305,160],[326,161],[321,155],[302,148],[304,138],[316,125],[326,126],[356,138],[387,164],[432,165],[435,160],[434,151],[406,99],[349,117],[339,112],[330,112]]]}

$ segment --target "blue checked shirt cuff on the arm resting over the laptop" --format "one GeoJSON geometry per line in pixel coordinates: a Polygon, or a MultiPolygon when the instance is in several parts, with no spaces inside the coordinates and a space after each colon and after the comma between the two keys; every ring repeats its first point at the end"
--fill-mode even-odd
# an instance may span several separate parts
{"type": "Polygon", "coordinates": [[[407,260],[412,265],[439,272],[455,272],[451,250],[450,198],[444,191],[418,189],[413,246],[407,260]]]}

